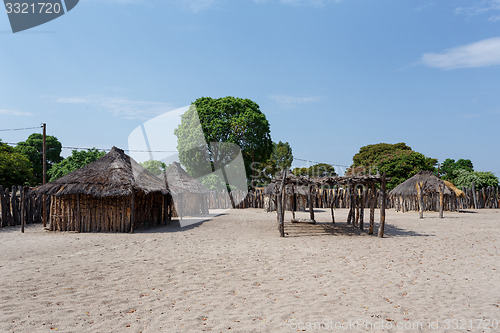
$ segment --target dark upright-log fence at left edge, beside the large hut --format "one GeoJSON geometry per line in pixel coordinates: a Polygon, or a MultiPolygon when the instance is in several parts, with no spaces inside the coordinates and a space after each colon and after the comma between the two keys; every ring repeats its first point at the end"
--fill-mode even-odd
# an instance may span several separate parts
{"type": "MultiPolygon", "coordinates": [[[[25,224],[42,223],[42,195],[35,195],[25,187],[25,197],[21,200],[22,186],[11,189],[0,185],[0,228],[25,224]],[[21,214],[23,212],[23,214],[21,214]]],[[[46,200],[47,209],[50,200],[46,200]]]]}

